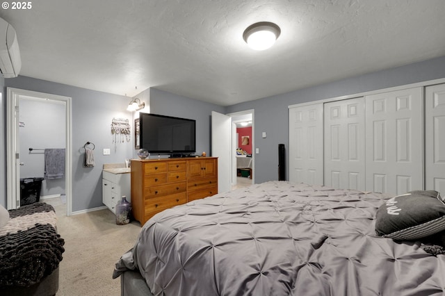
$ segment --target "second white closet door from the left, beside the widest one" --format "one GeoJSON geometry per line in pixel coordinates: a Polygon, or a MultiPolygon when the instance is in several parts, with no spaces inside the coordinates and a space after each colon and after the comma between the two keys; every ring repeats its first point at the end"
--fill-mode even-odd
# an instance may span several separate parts
{"type": "Polygon", "coordinates": [[[324,106],[325,185],[365,190],[364,98],[324,106]]]}

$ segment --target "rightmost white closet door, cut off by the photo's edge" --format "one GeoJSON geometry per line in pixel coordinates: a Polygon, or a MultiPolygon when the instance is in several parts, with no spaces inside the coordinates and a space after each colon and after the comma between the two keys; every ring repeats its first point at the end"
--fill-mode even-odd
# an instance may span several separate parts
{"type": "Polygon", "coordinates": [[[426,189],[445,197],[445,84],[426,88],[425,106],[426,189]]]}

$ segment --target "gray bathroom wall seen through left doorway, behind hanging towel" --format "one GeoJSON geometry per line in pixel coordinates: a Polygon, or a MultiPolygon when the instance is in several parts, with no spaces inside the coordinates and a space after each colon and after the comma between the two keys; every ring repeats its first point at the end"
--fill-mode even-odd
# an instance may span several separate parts
{"type": "MultiPolygon", "coordinates": [[[[20,179],[43,177],[44,151],[36,149],[65,148],[65,102],[26,98],[19,108],[20,179]]],[[[64,193],[65,178],[42,181],[40,197],[64,193]]]]}

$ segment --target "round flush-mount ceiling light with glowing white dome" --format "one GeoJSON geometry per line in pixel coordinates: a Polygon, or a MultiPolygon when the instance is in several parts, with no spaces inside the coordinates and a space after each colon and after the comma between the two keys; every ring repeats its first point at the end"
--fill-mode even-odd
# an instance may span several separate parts
{"type": "Polygon", "coordinates": [[[281,29],[276,24],[258,22],[245,29],[243,39],[251,49],[264,50],[275,43],[280,33],[281,29]]]}

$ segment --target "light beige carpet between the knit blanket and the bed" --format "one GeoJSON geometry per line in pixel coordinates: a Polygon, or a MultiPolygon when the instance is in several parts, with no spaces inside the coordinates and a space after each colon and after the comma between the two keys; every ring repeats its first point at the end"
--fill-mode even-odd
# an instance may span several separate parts
{"type": "Polygon", "coordinates": [[[65,240],[57,296],[120,295],[120,279],[112,278],[113,268],[133,247],[140,224],[117,225],[108,209],[67,217],[60,198],[42,202],[54,206],[58,233],[65,240]]]}

